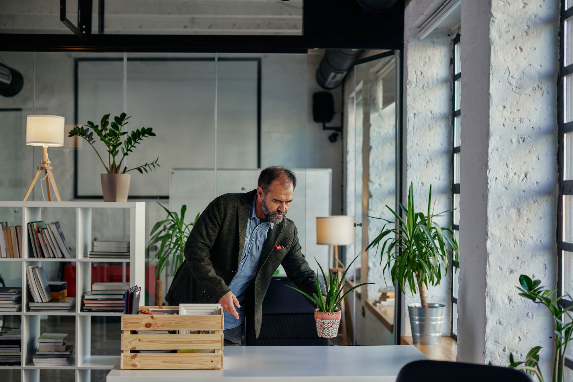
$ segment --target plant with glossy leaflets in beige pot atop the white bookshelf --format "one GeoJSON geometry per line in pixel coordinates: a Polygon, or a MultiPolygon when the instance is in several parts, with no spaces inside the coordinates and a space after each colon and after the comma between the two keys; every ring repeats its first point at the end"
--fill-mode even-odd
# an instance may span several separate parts
{"type": "Polygon", "coordinates": [[[129,180],[131,175],[127,174],[128,171],[137,170],[140,174],[143,171],[146,173],[148,170],[153,170],[155,166],[159,167],[159,157],[151,163],[145,163],[138,167],[127,169],[127,166],[123,163],[123,160],[133,149],[146,137],[154,137],[155,133],[151,127],[140,129],[135,129],[128,134],[127,131],[122,131],[123,127],[128,124],[127,117],[125,113],[121,113],[119,117],[113,117],[113,122],[109,123],[109,114],[104,115],[101,118],[100,125],[93,124],[92,121],[88,121],[86,125],[76,126],[70,132],[70,137],[79,136],[85,139],[96,151],[97,156],[100,158],[101,163],[105,167],[106,174],[101,174],[101,191],[104,195],[104,202],[127,202],[127,195],[129,194],[129,180]],[[108,128],[109,125],[109,128],[108,128]],[[101,158],[100,153],[97,151],[93,145],[95,138],[93,137],[93,132],[89,129],[93,129],[99,139],[105,144],[108,152],[108,164],[105,164],[104,160],[101,158]],[[122,139],[125,135],[125,139],[122,139]],[[119,153],[121,151],[121,158],[119,153]]]}

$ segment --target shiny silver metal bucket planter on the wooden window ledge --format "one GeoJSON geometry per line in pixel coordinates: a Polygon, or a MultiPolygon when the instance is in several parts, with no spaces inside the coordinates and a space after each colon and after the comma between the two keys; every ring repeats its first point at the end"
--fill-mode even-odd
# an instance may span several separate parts
{"type": "Polygon", "coordinates": [[[428,304],[422,308],[421,304],[409,304],[410,327],[412,328],[412,341],[414,344],[433,345],[442,340],[442,325],[446,314],[443,304],[428,304]]]}

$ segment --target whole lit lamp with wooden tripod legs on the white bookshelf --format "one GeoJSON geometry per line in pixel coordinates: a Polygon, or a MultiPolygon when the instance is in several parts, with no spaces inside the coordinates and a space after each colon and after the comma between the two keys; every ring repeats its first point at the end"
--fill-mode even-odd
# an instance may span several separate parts
{"type": "Polygon", "coordinates": [[[54,174],[52,174],[53,167],[50,166],[52,162],[50,162],[48,157],[48,147],[64,145],[64,117],[56,115],[29,115],[26,117],[26,144],[43,147],[44,157],[40,161],[40,166],[37,167],[36,175],[34,175],[34,179],[32,179],[32,183],[28,187],[24,200],[28,199],[34,184],[36,184],[36,180],[40,178],[40,174],[44,171],[46,188],[48,188],[48,200],[52,200],[51,184],[58,202],[61,202],[56,180],[54,180],[54,174]]]}

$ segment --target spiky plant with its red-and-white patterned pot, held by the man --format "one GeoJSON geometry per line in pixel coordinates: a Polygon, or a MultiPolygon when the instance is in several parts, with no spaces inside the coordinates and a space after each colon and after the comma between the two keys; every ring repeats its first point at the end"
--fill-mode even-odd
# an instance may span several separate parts
{"type": "Polygon", "coordinates": [[[354,286],[346,293],[344,293],[342,296],[340,296],[340,293],[344,292],[344,288],[348,284],[348,282],[346,283],[344,282],[344,277],[346,277],[348,269],[350,268],[352,263],[354,263],[356,258],[358,258],[358,256],[356,256],[354,260],[352,260],[352,262],[348,264],[346,270],[342,274],[342,277],[339,277],[340,272],[338,266],[336,266],[336,277],[332,275],[332,271],[329,268],[328,279],[326,278],[324,270],[319,263],[320,271],[323,274],[324,281],[327,280],[329,281],[328,288],[325,289],[326,294],[322,293],[318,278],[316,278],[316,293],[312,293],[312,297],[308,296],[308,294],[304,293],[300,289],[296,289],[290,285],[286,285],[289,288],[292,288],[304,294],[304,296],[309,298],[309,300],[313,301],[316,304],[316,306],[318,306],[318,308],[315,309],[315,321],[316,321],[316,333],[318,334],[319,337],[323,338],[336,337],[338,335],[338,326],[340,325],[340,318],[342,317],[342,312],[340,311],[340,309],[338,309],[340,302],[342,302],[344,300],[344,297],[346,297],[348,293],[352,292],[352,290],[359,288],[360,286],[363,285],[372,284],[372,282],[364,282],[362,284],[354,286]]]}

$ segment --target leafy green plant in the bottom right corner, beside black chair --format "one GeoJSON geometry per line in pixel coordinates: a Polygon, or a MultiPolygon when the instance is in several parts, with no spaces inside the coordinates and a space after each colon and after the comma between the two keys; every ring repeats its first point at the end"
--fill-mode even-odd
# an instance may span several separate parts
{"type": "MultiPolygon", "coordinates": [[[[565,355],[567,352],[567,345],[571,341],[571,335],[573,334],[573,317],[569,313],[569,310],[573,306],[568,306],[565,308],[559,301],[564,297],[558,297],[555,300],[551,300],[551,296],[557,292],[556,289],[543,289],[544,286],[539,286],[541,284],[540,280],[532,280],[527,275],[520,275],[519,283],[521,288],[516,287],[521,292],[519,296],[529,298],[529,300],[535,302],[536,304],[543,304],[547,306],[550,310],[553,321],[555,325],[555,357],[553,360],[553,382],[563,381],[563,370],[565,367],[565,355]]],[[[567,297],[571,298],[568,294],[567,297]]],[[[535,375],[540,382],[543,382],[543,377],[541,376],[541,371],[539,369],[539,352],[541,346],[535,346],[532,348],[525,357],[525,361],[515,362],[513,360],[513,355],[509,355],[509,362],[511,363],[509,367],[516,369],[521,369],[528,372],[530,375],[535,375]],[[521,366],[524,364],[524,366],[521,366]]]]}

